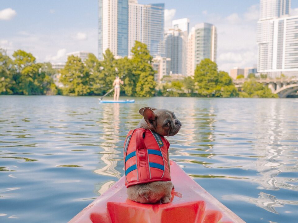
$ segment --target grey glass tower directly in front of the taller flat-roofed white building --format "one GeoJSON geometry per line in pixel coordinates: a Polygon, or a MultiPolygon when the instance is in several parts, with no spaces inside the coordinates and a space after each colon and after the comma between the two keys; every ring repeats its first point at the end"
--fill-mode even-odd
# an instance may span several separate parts
{"type": "Polygon", "coordinates": [[[173,74],[186,75],[187,66],[187,31],[170,28],[165,33],[165,55],[171,59],[173,74]]]}

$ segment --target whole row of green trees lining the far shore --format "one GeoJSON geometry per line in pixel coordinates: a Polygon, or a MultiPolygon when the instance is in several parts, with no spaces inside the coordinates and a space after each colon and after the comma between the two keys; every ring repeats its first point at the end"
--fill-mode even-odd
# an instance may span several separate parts
{"type": "Polygon", "coordinates": [[[57,71],[51,63],[37,63],[31,53],[23,50],[15,51],[12,59],[0,49],[0,94],[103,95],[112,88],[118,75],[124,81],[120,94],[125,96],[278,97],[267,86],[258,83],[254,75],[249,75],[238,90],[228,73],[219,71],[210,59],[203,59],[196,66],[194,77],[171,80],[168,76],[156,83],[156,71],[152,68],[152,56],[146,44],[136,41],[131,52],[130,59],[115,59],[108,49],[102,61],[91,53],[84,61],[71,55],[59,71],[63,86],[58,87],[53,80],[57,71]]]}

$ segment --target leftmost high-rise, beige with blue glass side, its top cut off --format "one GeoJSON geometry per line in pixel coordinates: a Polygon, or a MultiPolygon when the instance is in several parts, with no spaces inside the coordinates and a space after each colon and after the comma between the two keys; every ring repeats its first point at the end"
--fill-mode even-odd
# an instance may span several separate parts
{"type": "Polygon", "coordinates": [[[106,49],[115,56],[128,52],[128,0],[98,0],[98,58],[106,49]]]}

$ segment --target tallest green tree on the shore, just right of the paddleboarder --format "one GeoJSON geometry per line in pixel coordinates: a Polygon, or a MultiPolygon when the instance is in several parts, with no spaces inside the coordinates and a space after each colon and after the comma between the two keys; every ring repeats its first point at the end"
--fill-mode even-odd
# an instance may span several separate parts
{"type": "Polygon", "coordinates": [[[136,41],[131,52],[133,57],[132,73],[135,76],[136,96],[151,97],[155,93],[156,82],[154,81],[155,70],[152,68],[152,56],[149,54],[147,45],[136,41]]]}

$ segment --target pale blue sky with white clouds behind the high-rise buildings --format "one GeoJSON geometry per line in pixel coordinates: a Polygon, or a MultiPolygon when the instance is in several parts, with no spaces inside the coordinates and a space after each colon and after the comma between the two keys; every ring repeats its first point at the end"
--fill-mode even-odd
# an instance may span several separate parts
{"type": "MultiPolygon", "coordinates": [[[[190,27],[208,22],[217,27],[219,69],[256,64],[255,41],[259,0],[138,0],[165,3],[165,24],[189,18],[190,27]]],[[[293,14],[298,1],[292,0],[293,14]]],[[[66,53],[97,55],[97,0],[1,0],[0,47],[31,52],[38,62],[64,62],[66,53]]]]}

